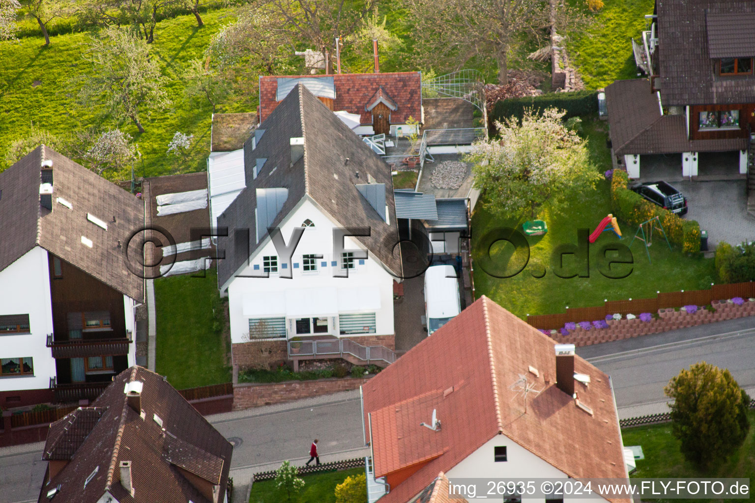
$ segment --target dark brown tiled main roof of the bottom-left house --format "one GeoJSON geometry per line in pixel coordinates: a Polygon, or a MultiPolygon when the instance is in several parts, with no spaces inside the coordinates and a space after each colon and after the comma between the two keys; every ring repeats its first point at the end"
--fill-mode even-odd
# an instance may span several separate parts
{"type": "MultiPolygon", "coordinates": [[[[95,503],[106,491],[120,503],[209,503],[181,470],[216,480],[218,465],[219,501],[223,501],[233,447],[162,376],[143,367],[131,367],[116,376],[94,406],[106,408],[106,412],[71,461],[43,486],[40,503],[51,501],[45,489],[59,484],[54,503],[95,503]],[[144,419],[126,401],[125,385],[133,381],[143,382],[140,400],[144,419]],[[155,415],[162,419],[162,428],[153,419],[155,415]],[[175,439],[183,442],[181,446],[193,447],[180,447],[177,454],[175,439]],[[166,451],[174,452],[175,459],[165,459],[166,451]],[[190,455],[200,459],[190,460],[190,455]],[[124,461],[131,462],[133,496],[121,484],[119,465],[124,461]]],[[[51,435],[60,431],[55,423],[51,435]]],[[[48,445],[55,441],[48,437],[48,445]]]]}

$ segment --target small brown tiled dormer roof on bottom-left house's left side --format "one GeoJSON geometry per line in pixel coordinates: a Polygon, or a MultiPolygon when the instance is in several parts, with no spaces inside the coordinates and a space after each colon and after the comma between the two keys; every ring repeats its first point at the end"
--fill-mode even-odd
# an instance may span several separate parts
{"type": "Polygon", "coordinates": [[[52,423],[42,459],[71,459],[106,410],[106,407],[79,407],[52,423]]]}

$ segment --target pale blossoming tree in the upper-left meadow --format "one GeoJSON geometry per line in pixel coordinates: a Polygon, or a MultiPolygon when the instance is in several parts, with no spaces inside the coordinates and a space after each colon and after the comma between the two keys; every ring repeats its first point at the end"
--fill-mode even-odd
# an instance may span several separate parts
{"type": "Polygon", "coordinates": [[[159,64],[134,33],[108,26],[91,38],[84,58],[93,69],[85,77],[80,99],[102,104],[118,120],[131,119],[140,133],[142,117],[170,104],[159,64]]]}

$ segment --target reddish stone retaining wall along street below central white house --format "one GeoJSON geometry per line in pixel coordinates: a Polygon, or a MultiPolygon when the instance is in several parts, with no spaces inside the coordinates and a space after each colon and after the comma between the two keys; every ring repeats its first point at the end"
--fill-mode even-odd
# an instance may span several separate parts
{"type": "Polygon", "coordinates": [[[317,379],[314,381],[287,381],[266,384],[244,382],[233,385],[233,409],[248,409],[289,402],[300,398],[319,397],[323,394],[358,389],[369,377],[344,379],[317,379]]]}

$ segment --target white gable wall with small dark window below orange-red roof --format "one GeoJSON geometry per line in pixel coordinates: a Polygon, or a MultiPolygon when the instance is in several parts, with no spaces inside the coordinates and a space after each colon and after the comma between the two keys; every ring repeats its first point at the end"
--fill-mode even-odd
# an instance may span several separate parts
{"type": "MultiPolygon", "coordinates": [[[[576,461],[576,460],[575,460],[576,461]]],[[[563,471],[545,462],[537,455],[520,446],[506,435],[496,435],[462,462],[446,472],[451,483],[455,478],[485,479],[565,479],[569,478],[563,471]],[[507,461],[496,462],[495,446],[506,446],[507,461]]],[[[480,482],[482,483],[482,482],[480,482]]],[[[480,485],[478,483],[478,486],[480,485]]],[[[482,483],[482,486],[485,486],[482,483]]],[[[487,487],[487,486],[485,486],[487,487]]],[[[478,489],[479,490],[479,489],[478,489]]],[[[480,495],[478,494],[478,497],[480,495]]],[[[470,501],[474,501],[470,499],[470,501]]],[[[489,500],[487,500],[489,501],[489,500]]],[[[522,503],[543,503],[545,498],[525,498],[522,503]]],[[[606,501],[602,498],[569,498],[564,501],[606,501]]]]}

